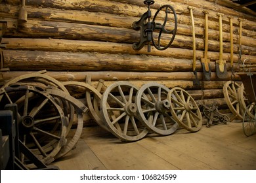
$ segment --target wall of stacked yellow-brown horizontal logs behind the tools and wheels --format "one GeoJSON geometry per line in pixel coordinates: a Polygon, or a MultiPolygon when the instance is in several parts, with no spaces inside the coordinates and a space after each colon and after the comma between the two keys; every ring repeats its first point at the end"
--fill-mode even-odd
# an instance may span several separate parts
{"type": "MultiPolygon", "coordinates": [[[[256,65],[255,12],[238,8],[227,0],[162,0],[152,5],[152,14],[165,4],[172,5],[177,12],[177,35],[167,50],[159,51],[152,47],[148,53],[146,46],[139,51],[132,47],[133,42],[140,39],[140,31],[133,30],[132,24],[147,10],[143,1],[26,0],[28,21],[25,24],[18,24],[20,0],[0,1],[0,18],[8,22],[2,41],[9,43],[3,50],[3,67],[10,69],[1,71],[0,80],[5,82],[15,76],[47,69],[47,75],[61,81],[83,82],[86,75],[91,75],[95,86],[100,78],[104,79],[105,88],[117,80],[129,80],[137,86],[154,81],[169,88],[180,86],[190,92],[199,91],[194,95],[202,99],[204,93],[222,90],[223,84],[231,79],[230,16],[233,20],[235,71],[240,71],[244,60],[256,65]],[[192,24],[188,5],[194,7],[196,71],[201,81],[199,90],[193,85],[192,24]],[[201,64],[204,52],[203,10],[209,12],[210,81],[204,80],[201,64]],[[226,60],[228,75],[222,80],[215,73],[220,49],[217,12],[224,13],[223,59],[226,60]],[[241,59],[239,19],[242,20],[241,59]]],[[[234,78],[240,80],[237,75],[234,78]]],[[[219,98],[223,95],[212,95],[212,99],[219,98]]]]}

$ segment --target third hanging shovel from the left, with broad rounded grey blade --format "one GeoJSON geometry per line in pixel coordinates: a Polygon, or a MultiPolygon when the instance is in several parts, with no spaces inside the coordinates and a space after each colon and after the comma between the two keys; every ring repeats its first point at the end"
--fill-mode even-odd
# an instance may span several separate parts
{"type": "Polygon", "coordinates": [[[228,71],[226,71],[226,61],[223,60],[223,14],[217,13],[217,16],[219,16],[219,60],[216,61],[216,74],[218,78],[224,79],[228,71]]]}

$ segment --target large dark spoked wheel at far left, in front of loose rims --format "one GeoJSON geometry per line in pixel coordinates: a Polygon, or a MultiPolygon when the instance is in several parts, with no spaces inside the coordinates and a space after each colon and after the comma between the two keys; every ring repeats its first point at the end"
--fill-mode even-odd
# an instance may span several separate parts
{"type": "MultiPolygon", "coordinates": [[[[68,122],[53,97],[36,86],[0,89],[0,106],[18,105],[19,139],[44,163],[51,163],[66,143],[68,122]]],[[[24,161],[24,158],[22,158],[24,161]]]]}

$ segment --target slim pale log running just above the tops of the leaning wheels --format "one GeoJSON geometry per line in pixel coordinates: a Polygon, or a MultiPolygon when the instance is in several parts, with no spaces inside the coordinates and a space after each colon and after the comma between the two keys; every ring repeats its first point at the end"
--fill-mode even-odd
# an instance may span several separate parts
{"type": "MultiPolygon", "coordinates": [[[[7,71],[0,73],[0,81],[11,80],[18,76],[34,73],[33,71],[7,71]]],[[[87,71],[87,72],[54,72],[47,71],[47,76],[51,76],[59,81],[79,81],[85,82],[87,76],[91,76],[92,81],[119,81],[119,80],[193,80],[194,74],[192,72],[120,72],[120,71],[87,71]]],[[[231,78],[230,73],[227,76],[231,78]]],[[[203,73],[198,72],[198,79],[203,80],[203,73]]],[[[234,75],[235,80],[240,80],[240,76],[234,75]]],[[[211,73],[211,80],[220,80],[216,73],[211,73]]]]}

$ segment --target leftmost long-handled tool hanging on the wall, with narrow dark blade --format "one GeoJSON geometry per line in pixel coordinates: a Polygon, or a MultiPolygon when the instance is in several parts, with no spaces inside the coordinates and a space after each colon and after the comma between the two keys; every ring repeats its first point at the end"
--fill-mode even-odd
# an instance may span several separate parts
{"type": "Polygon", "coordinates": [[[193,73],[195,79],[193,80],[194,86],[200,86],[200,80],[198,80],[198,73],[196,71],[196,32],[195,32],[195,23],[194,23],[194,16],[193,16],[193,8],[188,6],[188,10],[190,10],[191,22],[192,22],[192,37],[193,37],[193,73]]]}

